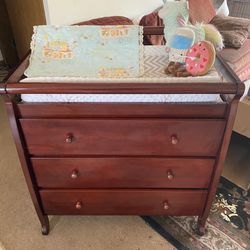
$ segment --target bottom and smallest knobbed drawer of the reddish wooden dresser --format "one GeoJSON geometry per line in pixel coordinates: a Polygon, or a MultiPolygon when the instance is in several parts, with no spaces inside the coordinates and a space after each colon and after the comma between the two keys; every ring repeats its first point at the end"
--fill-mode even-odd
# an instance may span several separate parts
{"type": "Polygon", "coordinates": [[[42,190],[51,215],[200,215],[207,192],[198,190],[42,190]]]}

